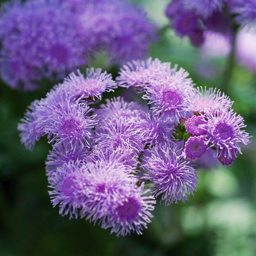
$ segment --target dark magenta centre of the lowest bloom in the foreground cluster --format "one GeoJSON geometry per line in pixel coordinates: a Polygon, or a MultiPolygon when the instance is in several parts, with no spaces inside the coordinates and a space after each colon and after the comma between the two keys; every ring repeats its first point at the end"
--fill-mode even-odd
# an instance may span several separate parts
{"type": "Polygon", "coordinates": [[[117,212],[123,221],[132,221],[138,219],[139,212],[142,210],[142,205],[135,198],[128,198],[123,205],[118,206],[117,212]]]}

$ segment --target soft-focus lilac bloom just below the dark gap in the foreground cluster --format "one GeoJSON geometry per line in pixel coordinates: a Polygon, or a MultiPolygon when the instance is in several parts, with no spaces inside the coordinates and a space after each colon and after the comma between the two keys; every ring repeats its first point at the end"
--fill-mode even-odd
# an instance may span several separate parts
{"type": "Polygon", "coordinates": [[[136,118],[142,115],[141,107],[137,102],[126,102],[120,96],[117,98],[106,99],[106,104],[101,104],[100,109],[96,110],[97,119],[111,120],[113,118],[136,118]]]}

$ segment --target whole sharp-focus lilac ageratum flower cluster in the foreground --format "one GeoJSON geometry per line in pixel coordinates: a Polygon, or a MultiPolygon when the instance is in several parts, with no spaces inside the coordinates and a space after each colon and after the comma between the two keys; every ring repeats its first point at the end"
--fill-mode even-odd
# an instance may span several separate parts
{"type": "Polygon", "coordinates": [[[61,215],[117,236],[141,234],[156,197],[168,205],[193,195],[195,159],[212,151],[222,164],[234,161],[249,143],[243,117],[228,96],[195,88],[188,75],[151,58],[127,63],[116,81],[101,69],[86,76],[78,70],[29,106],[18,126],[21,142],[32,149],[48,137],[49,194],[61,215]],[[102,93],[117,86],[141,93],[149,110],[120,96],[99,105],[102,93]]]}

